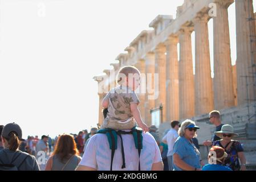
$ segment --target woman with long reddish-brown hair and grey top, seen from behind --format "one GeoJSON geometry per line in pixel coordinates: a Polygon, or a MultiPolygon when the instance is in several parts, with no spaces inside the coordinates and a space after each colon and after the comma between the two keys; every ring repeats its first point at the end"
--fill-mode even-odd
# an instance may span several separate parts
{"type": "Polygon", "coordinates": [[[82,158],[72,135],[60,135],[54,152],[48,159],[46,171],[75,171],[82,158]]]}

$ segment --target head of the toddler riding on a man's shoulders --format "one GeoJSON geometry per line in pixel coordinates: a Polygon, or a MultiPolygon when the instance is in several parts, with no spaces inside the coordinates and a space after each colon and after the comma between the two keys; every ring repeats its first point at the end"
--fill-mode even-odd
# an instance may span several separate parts
{"type": "Polygon", "coordinates": [[[119,70],[116,79],[117,84],[128,86],[131,90],[136,90],[140,85],[140,71],[136,67],[127,66],[119,70]]]}

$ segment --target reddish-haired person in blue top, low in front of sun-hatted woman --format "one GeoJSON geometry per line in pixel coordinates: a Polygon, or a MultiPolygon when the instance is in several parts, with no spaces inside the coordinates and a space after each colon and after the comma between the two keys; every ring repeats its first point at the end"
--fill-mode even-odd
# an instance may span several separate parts
{"type": "Polygon", "coordinates": [[[206,164],[202,171],[232,171],[229,167],[225,166],[227,153],[224,148],[213,146],[210,148],[208,155],[209,164],[206,164]]]}

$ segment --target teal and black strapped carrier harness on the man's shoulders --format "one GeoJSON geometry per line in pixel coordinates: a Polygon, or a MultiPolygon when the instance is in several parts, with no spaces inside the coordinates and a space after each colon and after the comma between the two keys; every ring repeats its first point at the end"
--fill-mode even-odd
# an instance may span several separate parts
{"type": "Polygon", "coordinates": [[[123,138],[121,137],[121,134],[132,134],[133,139],[135,142],[135,147],[138,150],[139,154],[139,171],[140,171],[140,151],[143,148],[143,136],[142,136],[142,130],[138,129],[136,126],[132,128],[131,131],[122,131],[122,130],[113,130],[113,129],[102,129],[99,130],[97,133],[101,134],[106,134],[108,138],[108,143],[109,143],[109,149],[111,150],[111,166],[110,166],[110,171],[112,171],[112,164],[113,164],[113,158],[115,155],[115,150],[117,149],[117,135],[121,139],[121,153],[122,153],[122,158],[123,158],[123,165],[122,169],[125,168],[125,157],[124,157],[124,146],[123,146],[123,138]]]}

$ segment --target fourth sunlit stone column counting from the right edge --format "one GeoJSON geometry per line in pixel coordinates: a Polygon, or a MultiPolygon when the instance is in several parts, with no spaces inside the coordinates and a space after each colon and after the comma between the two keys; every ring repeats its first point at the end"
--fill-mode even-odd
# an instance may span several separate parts
{"type": "Polygon", "coordinates": [[[180,100],[180,119],[194,116],[194,75],[192,63],[192,42],[189,27],[179,32],[180,61],[178,63],[178,88],[180,100]]]}

